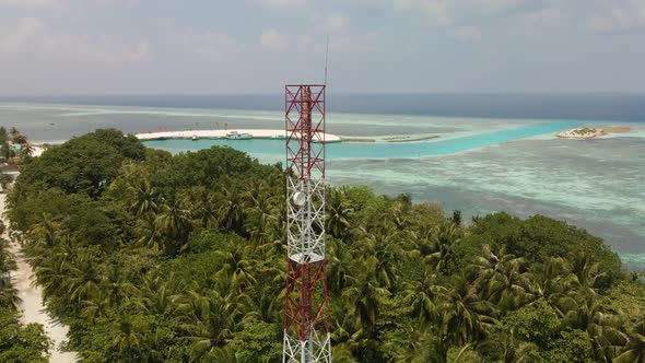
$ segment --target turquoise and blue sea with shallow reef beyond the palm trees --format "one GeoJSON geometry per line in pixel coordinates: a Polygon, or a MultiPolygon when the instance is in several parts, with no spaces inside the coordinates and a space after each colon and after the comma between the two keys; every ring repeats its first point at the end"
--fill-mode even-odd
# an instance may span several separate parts
{"type": "MultiPolygon", "coordinates": [[[[373,105],[379,104],[379,114],[365,113],[374,107],[351,104],[356,107],[351,108],[340,103],[328,115],[327,131],[376,142],[328,144],[328,182],[370,185],[388,195],[409,192],[414,201],[437,202],[446,211],[461,210],[467,218],[505,210],[520,216],[540,213],[563,219],[606,238],[628,268],[645,268],[645,97],[578,95],[568,103],[542,97],[532,104],[525,98],[511,97],[506,108],[500,99],[488,99],[488,108],[486,99],[480,99],[464,107],[465,117],[456,116],[458,107],[448,106],[458,102],[446,96],[448,106],[443,108],[433,108],[436,101],[425,104],[424,97],[401,96],[402,105],[383,105],[382,98],[372,98],[373,105]],[[424,115],[430,108],[436,110],[433,116],[424,115]],[[628,126],[631,132],[587,141],[554,137],[560,130],[582,126],[628,126]],[[392,136],[438,138],[384,141],[392,136]]],[[[127,99],[130,104],[121,102],[125,106],[110,106],[119,101],[114,98],[96,105],[83,99],[77,104],[45,103],[47,99],[0,103],[0,125],[16,126],[40,142],[62,141],[105,127],[126,132],[284,127],[281,103],[248,109],[258,105],[256,99],[241,109],[237,97],[219,99],[230,108],[219,104],[220,108],[191,108],[212,105],[181,97],[168,98],[172,102],[163,97],[127,99]],[[143,107],[136,106],[137,102],[159,104],[143,107]],[[185,107],[160,107],[173,103],[185,107]]],[[[261,104],[273,98],[258,99],[261,104]]],[[[360,99],[370,102],[366,96],[360,99]]],[[[175,153],[228,145],[275,163],[284,161],[283,142],[166,140],[146,144],[175,153]]]]}

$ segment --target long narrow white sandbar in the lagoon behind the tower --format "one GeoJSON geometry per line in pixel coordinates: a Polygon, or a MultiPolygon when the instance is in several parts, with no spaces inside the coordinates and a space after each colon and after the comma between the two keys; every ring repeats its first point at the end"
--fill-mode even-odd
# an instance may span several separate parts
{"type": "MultiPolygon", "coordinates": [[[[284,137],[284,130],[279,129],[231,129],[231,130],[186,130],[186,131],[161,131],[161,132],[142,132],[137,133],[139,140],[159,140],[159,139],[208,139],[225,138],[227,133],[248,133],[254,138],[280,138],[284,137]]],[[[325,133],[326,142],[340,142],[341,138],[336,134],[325,133]]]]}

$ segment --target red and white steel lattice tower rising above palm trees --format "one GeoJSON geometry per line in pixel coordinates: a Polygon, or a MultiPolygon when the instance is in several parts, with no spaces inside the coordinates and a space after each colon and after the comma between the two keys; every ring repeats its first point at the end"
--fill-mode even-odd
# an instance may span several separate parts
{"type": "Polygon", "coordinates": [[[325,260],[325,85],[286,85],[283,363],[331,362],[325,260]]]}

